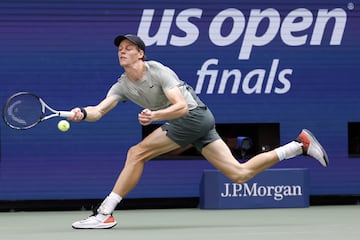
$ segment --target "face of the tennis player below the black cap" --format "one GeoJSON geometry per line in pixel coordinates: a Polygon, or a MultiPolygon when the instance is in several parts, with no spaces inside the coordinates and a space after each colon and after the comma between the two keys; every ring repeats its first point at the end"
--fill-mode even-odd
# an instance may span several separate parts
{"type": "Polygon", "coordinates": [[[118,57],[120,65],[126,67],[142,59],[144,52],[134,43],[125,39],[119,45],[118,57]]]}

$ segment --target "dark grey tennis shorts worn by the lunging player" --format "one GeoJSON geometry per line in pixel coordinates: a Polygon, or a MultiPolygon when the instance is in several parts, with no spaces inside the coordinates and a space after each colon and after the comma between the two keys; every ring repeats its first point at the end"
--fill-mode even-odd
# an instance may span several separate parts
{"type": "Polygon", "coordinates": [[[161,128],[181,147],[192,144],[200,152],[204,146],[220,138],[214,116],[207,107],[190,110],[185,117],[170,120],[161,128]]]}

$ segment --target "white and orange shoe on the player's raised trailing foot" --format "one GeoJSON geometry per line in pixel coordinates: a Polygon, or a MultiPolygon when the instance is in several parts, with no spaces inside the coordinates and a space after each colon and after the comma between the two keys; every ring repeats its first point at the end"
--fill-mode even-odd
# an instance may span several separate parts
{"type": "Polygon", "coordinates": [[[318,160],[324,167],[329,166],[329,159],[325,149],[321,146],[309,130],[303,129],[296,141],[302,143],[303,154],[318,160]]]}

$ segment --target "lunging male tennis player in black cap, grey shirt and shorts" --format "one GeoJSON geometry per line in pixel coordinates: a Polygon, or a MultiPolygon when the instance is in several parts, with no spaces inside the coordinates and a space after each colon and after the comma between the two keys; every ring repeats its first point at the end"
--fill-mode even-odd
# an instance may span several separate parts
{"type": "Polygon", "coordinates": [[[146,61],[145,44],[135,35],[117,36],[114,40],[125,73],[96,106],[74,108],[72,121],[94,122],[101,119],[120,101],[131,100],[143,110],[138,114],[143,126],[154,121],[168,122],[140,143],[132,146],[112,192],[95,213],[72,224],[73,228],[111,228],[117,224],[112,216],[115,207],[138,183],[144,164],[163,153],[192,144],[224,175],[243,183],[281,160],[308,155],[328,166],[328,157],[309,130],[302,130],[295,141],[261,153],[239,163],[215,129],[210,109],[181,81],[170,68],[156,61],[146,61]]]}

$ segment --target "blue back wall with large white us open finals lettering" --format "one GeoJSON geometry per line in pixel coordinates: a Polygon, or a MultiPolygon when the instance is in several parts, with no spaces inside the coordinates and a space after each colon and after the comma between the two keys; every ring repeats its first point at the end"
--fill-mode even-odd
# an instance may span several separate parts
{"type": "MultiPolygon", "coordinates": [[[[148,58],[192,85],[218,123],[280,123],[282,144],[311,129],[330,167],[305,157],[276,166],[309,168],[310,194],[359,194],[347,132],[360,121],[359,26],[359,6],[343,0],[2,1],[0,101],[30,91],[61,110],[97,104],[122,73],[114,36],[139,34],[148,58]]],[[[119,104],[67,133],[54,119],[26,131],[1,123],[0,200],[102,198],[142,137],[139,110],[119,104]]],[[[199,196],[204,168],[150,161],[129,198],[199,196]]]]}

